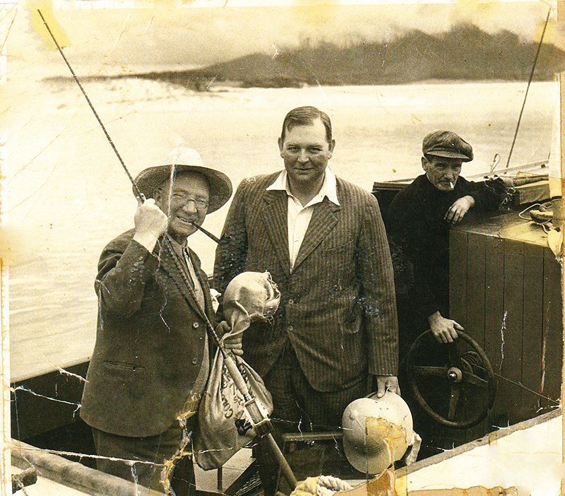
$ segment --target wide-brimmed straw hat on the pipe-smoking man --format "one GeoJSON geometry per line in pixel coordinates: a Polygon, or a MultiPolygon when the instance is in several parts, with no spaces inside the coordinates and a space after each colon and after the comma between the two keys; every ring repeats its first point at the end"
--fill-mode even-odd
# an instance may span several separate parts
{"type": "MultiPolygon", "coordinates": [[[[205,167],[201,156],[194,148],[178,147],[165,160],[165,165],[155,165],[142,170],[134,179],[139,191],[145,195],[145,198],[153,198],[155,190],[171,177],[177,176],[182,172],[197,172],[206,177],[210,186],[210,204],[208,213],[217,211],[218,208],[232,196],[232,182],[223,172],[219,170],[205,167]]],[[[133,188],[133,194],[137,194],[133,188]]]]}

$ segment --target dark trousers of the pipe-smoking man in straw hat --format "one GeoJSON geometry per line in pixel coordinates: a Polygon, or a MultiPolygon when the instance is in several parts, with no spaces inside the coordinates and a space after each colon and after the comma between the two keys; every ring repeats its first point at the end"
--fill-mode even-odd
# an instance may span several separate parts
{"type": "Polygon", "coordinates": [[[196,495],[190,443],[190,435],[194,427],[196,427],[196,415],[186,421],[184,432],[180,425],[175,423],[162,434],[150,437],[117,436],[93,427],[96,452],[99,456],[108,457],[97,459],[96,467],[112,476],[121,477],[144,488],[168,495],[196,495]],[[184,449],[186,454],[178,456],[179,449],[184,444],[186,444],[184,449]],[[167,463],[173,459],[173,463],[167,463]],[[172,467],[172,475],[171,472],[166,471],[168,466],[172,467]],[[164,469],[174,492],[165,489],[167,485],[163,480],[164,469]]]}

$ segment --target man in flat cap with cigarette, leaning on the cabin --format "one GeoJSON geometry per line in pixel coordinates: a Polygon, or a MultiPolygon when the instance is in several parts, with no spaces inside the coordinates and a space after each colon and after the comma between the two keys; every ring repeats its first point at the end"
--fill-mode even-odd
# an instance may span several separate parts
{"type": "Polygon", "coordinates": [[[426,329],[437,341],[451,343],[458,322],[448,318],[449,228],[471,209],[484,213],[499,208],[497,183],[470,182],[460,177],[472,147],[452,131],[435,131],[422,143],[425,174],[400,191],[386,215],[395,266],[399,309],[400,356],[426,329]],[[407,311],[410,309],[409,311],[407,311]]]}

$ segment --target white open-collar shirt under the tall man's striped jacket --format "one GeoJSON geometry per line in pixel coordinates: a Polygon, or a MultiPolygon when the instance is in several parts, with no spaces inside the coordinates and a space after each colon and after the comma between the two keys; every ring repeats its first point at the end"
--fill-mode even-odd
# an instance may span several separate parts
{"type": "Polygon", "coordinates": [[[295,266],[296,257],[298,255],[300,245],[304,240],[304,235],[308,229],[314,205],[321,203],[327,196],[328,200],[339,205],[338,189],[335,181],[335,174],[330,167],[326,167],[323,183],[320,191],[306,205],[302,206],[299,199],[292,195],[288,184],[287,171],[283,170],[278,175],[275,182],[271,184],[267,190],[286,191],[288,197],[288,253],[290,256],[290,270],[295,266]]]}

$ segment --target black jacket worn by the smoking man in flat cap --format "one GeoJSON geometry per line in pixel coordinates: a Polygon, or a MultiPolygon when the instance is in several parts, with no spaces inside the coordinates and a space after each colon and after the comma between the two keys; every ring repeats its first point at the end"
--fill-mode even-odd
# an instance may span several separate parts
{"type": "Polygon", "coordinates": [[[408,297],[410,321],[420,326],[419,332],[427,329],[427,317],[434,312],[448,316],[451,225],[444,215],[454,201],[467,195],[475,199],[475,206],[463,221],[499,208],[504,187],[500,182],[459,177],[452,191],[440,191],[421,175],[396,195],[388,209],[385,221],[397,295],[400,300],[408,297]]]}

